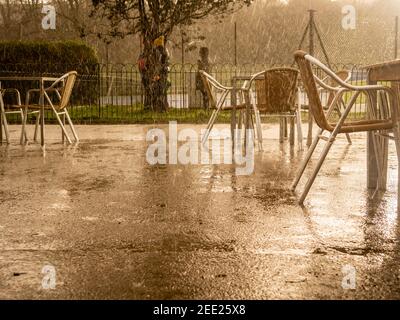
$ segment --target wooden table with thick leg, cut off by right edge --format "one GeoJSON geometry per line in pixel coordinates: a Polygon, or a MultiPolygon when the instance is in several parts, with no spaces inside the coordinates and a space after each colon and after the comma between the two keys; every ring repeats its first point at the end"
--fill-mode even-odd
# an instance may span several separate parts
{"type": "MultiPolygon", "coordinates": [[[[375,85],[380,81],[390,82],[391,87],[396,93],[397,103],[399,102],[399,88],[400,88],[400,60],[387,61],[379,64],[369,65],[364,67],[368,70],[367,83],[375,85]]],[[[371,108],[377,107],[377,97],[374,97],[371,108]]],[[[379,186],[380,190],[386,190],[387,185],[387,168],[388,168],[388,139],[382,139],[380,145],[382,146],[382,178],[378,181],[378,168],[376,162],[376,155],[372,143],[372,134],[368,133],[367,136],[367,185],[368,188],[376,188],[379,186]]]]}

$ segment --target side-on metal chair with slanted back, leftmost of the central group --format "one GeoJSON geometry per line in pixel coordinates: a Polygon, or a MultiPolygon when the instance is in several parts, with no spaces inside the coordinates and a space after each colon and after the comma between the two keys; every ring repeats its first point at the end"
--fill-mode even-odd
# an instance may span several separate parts
{"type": "MultiPolygon", "coordinates": [[[[201,143],[204,145],[208,140],[208,137],[211,133],[211,130],[214,126],[214,123],[218,117],[218,114],[221,111],[232,110],[234,106],[225,105],[226,98],[229,94],[233,93],[233,87],[226,87],[220,84],[213,76],[208,74],[207,72],[200,70],[199,71],[201,79],[204,84],[204,89],[206,91],[209,106],[213,109],[210,119],[208,120],[206,132],[201,140],[201,143]]],[[[241,92],[241,89],[238,90],[241,92]]],[[[240,100],[242,100],[243,96],[239,95],[240,100]]],[[[236,110],[244,110],[246,109],[246,104],[243,101],[240,101],[238,105],[236,105],[236,110]]],[[[241,125],[241,117],[239,117],[239,126],[241,125]]]]}

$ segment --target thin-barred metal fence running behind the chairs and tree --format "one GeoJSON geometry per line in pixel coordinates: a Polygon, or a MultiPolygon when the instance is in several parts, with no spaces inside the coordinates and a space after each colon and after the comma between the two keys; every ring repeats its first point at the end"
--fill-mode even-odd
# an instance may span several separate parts
{"type": "MultiPolygon", "coordinates": [[[[223,85],[231,86],[235,76],[246,76],[272,67],[283,65],[240,65],[216,64],[211,66],[211,74],[223,85]]],[[[73,66],[70,66],[73,69],[73,66]]],[[[82,69],[82,66],[80,66],[82,69]]],[[[366,70],[358,65],[336,64],[334,70],[350,70],[351,82],[356,85],[365,84],[366,70]]],[[[51,70],[50,67],[46,70],[51,70]]],[[[91,69],[93,70],[93,68],[91,69]]],[[[145,110],[143,107],[143,87],[140,73],[136,65],[113,64],[97,65],[91,74],[79,74],[71,101],[70,114],[77,123],[148,123],[172,120],[187,122],[204,122],[210,112],[202,105],[202,94],[196,87],[197,65],[174,64],[170,66],[168,102],[170,109],[165,114],[145,110]]],[[[15,75],[16,68],[0,69],[1,75],[15,75]]],[[[36,72],[36,74],[57,76],[60,74],[36,72]]],[[[318,73],[318,71],[317,71],[318,73]]],[[[32,72],[30,73],[32,75],[32,72]]],[[[240,83],[237,84],[240,86],[240,83]]],[[[226,103],[231,103],[228,97],[226,103]]],[[[302,103],[307,103],[305,95],[302,103]]],[[[359,99],[353,115],[365,113],[365,101],[359,99]]],[[[49,120],[51,113],[47,114],[49,120]]],[[[222,119],[223,120],[223,119],[222,119]]]]}

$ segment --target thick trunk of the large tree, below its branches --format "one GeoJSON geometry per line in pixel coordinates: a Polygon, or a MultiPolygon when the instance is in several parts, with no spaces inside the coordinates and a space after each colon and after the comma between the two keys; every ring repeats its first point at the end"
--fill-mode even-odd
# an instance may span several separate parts
{"type": "Polygon", "coordinates": [[[152,41],[145,41],[140,60],[145,108],[164,112],[168,109],[167,92],[170,86],[168,53],[164,45],[155,46],[152,41]]]}

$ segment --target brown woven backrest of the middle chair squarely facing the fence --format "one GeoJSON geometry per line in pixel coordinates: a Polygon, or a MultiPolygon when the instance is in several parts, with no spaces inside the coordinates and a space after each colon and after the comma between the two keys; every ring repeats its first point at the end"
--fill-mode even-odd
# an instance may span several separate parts
{"type": "Polygon", "coordinates": [[[273,68],[256,78],[257,109],[264,114],[287,114],[295,110],[297,79],[294,68],[273,68]]]}

